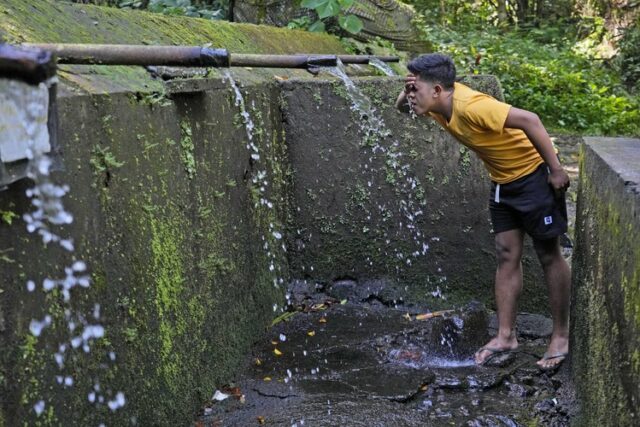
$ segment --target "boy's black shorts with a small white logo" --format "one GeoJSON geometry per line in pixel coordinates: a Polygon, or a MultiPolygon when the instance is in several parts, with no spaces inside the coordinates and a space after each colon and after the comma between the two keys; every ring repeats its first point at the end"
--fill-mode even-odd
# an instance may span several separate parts
{"type": "Polygon", "coordinates": [[[492,183],[489,211],[494,233],[523,229],[534,239],[546,240],[567,232],[564,192],[556,197],[548,176],[543,163],[513,182],[492,183]]]}

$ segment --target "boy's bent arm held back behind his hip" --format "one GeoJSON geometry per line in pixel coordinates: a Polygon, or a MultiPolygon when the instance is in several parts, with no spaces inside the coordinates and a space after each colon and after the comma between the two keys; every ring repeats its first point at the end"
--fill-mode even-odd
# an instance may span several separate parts
{"type": "Polygon", "coordinates": [[[555,190],[566,190],[569,187],[569,175],[560,164],[560,160],[558,160],[558,156],[553,149],[551,138],[549,138],[549,134],[537,114],[511,107],[504,127],[522,129],[524,131],[549,167],[549,183],[555,190]]]}

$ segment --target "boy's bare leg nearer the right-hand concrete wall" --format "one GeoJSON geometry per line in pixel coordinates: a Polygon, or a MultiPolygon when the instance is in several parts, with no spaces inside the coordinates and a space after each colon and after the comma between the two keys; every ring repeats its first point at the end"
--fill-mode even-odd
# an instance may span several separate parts
{"type": "MultiPolygon", "coordinates": [[[[571,270],[562,256],[559,238],[533,239],[538,259],[544,270],[544,280],[549,289],[553,332],[547,348],[547,356],[564,355],[569,351],[569,304],[571,300],[571,270]]],[[[564,357],[541,359],[538,365],[552,368],[564,357]]]]}

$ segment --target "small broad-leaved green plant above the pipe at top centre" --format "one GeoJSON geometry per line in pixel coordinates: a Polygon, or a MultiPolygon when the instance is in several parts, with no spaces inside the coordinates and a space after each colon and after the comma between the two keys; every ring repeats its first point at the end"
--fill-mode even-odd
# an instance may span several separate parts
{"type": "Polygon", "coordinates": [[[357,34],[362,30],[363,23],[357,16],[347,13],[353,2],[354,0],[302,0],[300,6],[315,11],[318,19],[314,22],[311,22],[311,18],[307,16],[294,19],[289,23],[289,28],[325,31],[327,21],[337,19],[340,28],[351,34],[357,34]]]}

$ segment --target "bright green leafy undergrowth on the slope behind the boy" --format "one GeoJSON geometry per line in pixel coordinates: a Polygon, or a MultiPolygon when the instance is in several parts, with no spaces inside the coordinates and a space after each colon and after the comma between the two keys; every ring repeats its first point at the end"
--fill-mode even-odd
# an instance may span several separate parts
{"type": "Polygon", "coordinates": [[[602,61],[577,53],[572,34],[556,27],[505,33],[490,26],[455,31],[439,26],[425,32],[454,58],[459,74],[496,75],[507,102],[537,113],[551,129],[640,134],[640,98],[629,95],[602,61]],[[547,30],[556,34],[553,42],[540,34],[547,30]]]}

